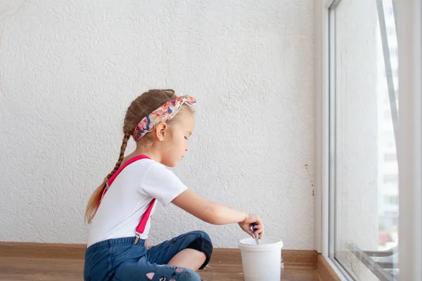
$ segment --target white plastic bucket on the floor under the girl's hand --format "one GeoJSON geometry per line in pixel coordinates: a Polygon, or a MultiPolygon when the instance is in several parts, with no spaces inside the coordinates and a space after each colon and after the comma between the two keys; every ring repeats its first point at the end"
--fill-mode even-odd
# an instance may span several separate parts
{"type": "Polygon", "coordinates": [[[283,241],[262,238],[257,245],[252,237],[239,242],[245,281],[281,280],[281,248],[283,241]]]}

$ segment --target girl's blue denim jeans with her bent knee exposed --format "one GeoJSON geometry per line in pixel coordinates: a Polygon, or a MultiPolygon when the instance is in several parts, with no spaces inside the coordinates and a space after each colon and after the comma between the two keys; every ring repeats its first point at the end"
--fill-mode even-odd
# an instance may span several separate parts
{"type": "Polygon", "coordinates": [[[146,249],[145,240],[134,244],[135,237],[98,242],[85,251],[85,281],[199,281],[198,273],[187,268],[167,266],[184,249],[202,251],[210,261],[212,244],[203,231],[193,231],[146,249]]]}

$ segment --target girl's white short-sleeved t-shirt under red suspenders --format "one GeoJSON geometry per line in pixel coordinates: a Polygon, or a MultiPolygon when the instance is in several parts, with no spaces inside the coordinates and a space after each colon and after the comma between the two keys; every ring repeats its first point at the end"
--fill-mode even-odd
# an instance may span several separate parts
{"type": "MultiPolygon", "coordinates": [[[[91,222],[88,247],[103,240],[134,237],[142,215],[154,198],[167,206],[187,189],[172,171],[151,159],[139,159],[120,169],[91,222]]],[[[151,214],[154,211],[155,206],[151,214]]],[[[148,237],[150,228],[151,219],[141,239],[148,237]]]]}

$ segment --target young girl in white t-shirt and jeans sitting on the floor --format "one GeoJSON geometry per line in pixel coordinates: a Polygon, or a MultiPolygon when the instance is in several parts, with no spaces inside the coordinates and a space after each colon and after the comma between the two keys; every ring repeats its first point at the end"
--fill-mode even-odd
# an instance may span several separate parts
{"type": "Polygon", "coordinates": [[[252,237],[262,237],[256,215],[205,200],[166,168],[177,166],[188,151],[194,126],[189,105],[194,103],[191,96],[177,97],[172,90],[151,90],[127,109],[119,159],[87,205],[91,228],[84,280],[200,280],[196,270],[212,254],[207,233],[193,231],[146,248],[156,201],[164,206],[171,202],[207,223],[238,223],[252,237]],[[131,136],[136,149],[124,157],[131,136]]]}

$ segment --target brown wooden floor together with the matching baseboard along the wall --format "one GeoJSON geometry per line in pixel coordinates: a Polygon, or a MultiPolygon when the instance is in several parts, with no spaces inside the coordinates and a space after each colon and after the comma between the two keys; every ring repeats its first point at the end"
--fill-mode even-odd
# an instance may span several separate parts
{"type": "MultiPolygon", "coordinates": [[[[0,242],[0,281],[82,280],[84,251],[84,245],[79,244],[0,242]]],[[[281,280],[320,280],[321,271],[315,270],[316,251],[283,250],[282,256],[285,263],[281,280]]],[[[240,250],[214,249],[210,263],[199,273],[204,281],[243,280],[240,250]]],[[[329,275],[321,276],[324,281],[338,280],[329,275]]]]}

